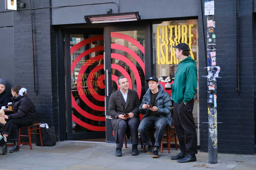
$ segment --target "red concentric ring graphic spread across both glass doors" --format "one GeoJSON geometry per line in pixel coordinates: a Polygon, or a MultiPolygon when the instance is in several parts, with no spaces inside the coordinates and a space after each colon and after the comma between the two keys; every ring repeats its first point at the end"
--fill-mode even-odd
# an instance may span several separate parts
{"type": "MultiPolygon", "coordinates": [[[[145,48],[140,44],[139,41],[136,41],[132,37],[130,37],[128,35],[125,35],[125,34],[122,34],[122,33],[113,33],[113,32],[111,33],[111,37],[117,37],[117,38],[121,38],[121,39],[124,39],[126,41],[129,41],[133,45],[137,46],[142,51],[143,54],[145,54],[145,48]]],[[[92,41],[98,41],[98,40],[103,40],[103,39],[104,39],[103,35],[94,36],[94,37],[90,37],[88,39],[85,39],[84,41],[81,41],[78,44],[76,44],[76,45],[74,45],[73,47],[70,48],[70,55],[72,55],[76,50],[78,50],[79,48],[85,46],[86,44],[88,44],[88,43],[90,43],[92,41]]],[[[145,64],[142,61],[142,59],[134,51],[132,51],[130,48],[124,47],[124,46],[119,45],[119,44],[111,44],[111,48],[118,49],[118,50],[123,50],[123,51],[127,52],[129,55],[131,55],[135,59],[135,61],[140,65],[140,67],[143,70],[144,75],[145,75],[145,64]]],[[[76,64],[84,56],[89,55],[89,54],[91,54],[93,52],[96,52],[96,51],[100,51],[100,50],[104,50],[104,46],[97,46],[95,48],[90,48],[90,49],[84,51],[83,53],[81,53],[80,55],[78,55],[76,57],[76,59],[71,64],[71,70],[70,70],[71,74],[74,71],[74,69],[76,67],[76,64]]],[[[112,53],[111,54],[111,58],[119,59],[119,60],[123,61],[124,63],[126,63],[130,67],[130,69],[132,70],[132,72],[133,72],[133,74],[135,76],[135,80],[136,80],[136,84],[137,84],[137,93],[138,93],[139,98],[140,98],[141,97],[140,95],[141,95],[141,88],[142,88],[141,84],[142,83],[141,83],[141,80],[140,80],[139,71],[136,68],[136,66],[132,63],[132,61],[130,61],[124,55],[112,53]]],[[[97,55],[97,56],[95,56],[93,58],[90,58],[89,60],[87,60],[84,63],[84,65],[79,70],[78,74],[84,74],[85,70],[88,68],[90,63],[93,63],[93,62],[96,62],[96,61],[100,61],[102,59],[103,59],[103,55],[97,55]]],[[[122,66],[120,66],[118,64],[111,64],[111,68],[112,69],[116,69],[119,72],[121,72],[128,79],[129,89],[132,89],[132,80],[131,80],[131,77],[128,74],[128,72],[122,66]]],[[[91,72],[89,73],[90,76],[87,78],[87,87],[88,87],[88,90],[90,90],[90,92],[92,92],[94,90],[93,86],[95,86],[95,85],[92,85],[90,83],[91,81],[96,81],[96,83],[97,83],[97,82],[102,82],[105,79],[105,75],[104,74],[102,74],[102,75],[100,75],[100,76],[98,76],[96,78],[94,77],[95,73],[97,73],[99,70],[102,70],[102,69],[104,69],[104,65],[98,65],[98,66],[94,67],[91,70],[91,72]],[[89,82],[89,84],[88,84],[88,82],[89,82]]],[[[117,76],[115,76],[113,74],[111,75],[111,80],[112,81],[116,82],[117,79],[118,79],[117,76]]],[[[83,78],[81,78],[80,76],[77,77],[77,91],[78,92],[84,92],[83,91],[83,86],[80,85],[80,84],[82,84],[82,81],[83,81],[83,78]]],[[[117,85],[117,82],[116,82],[116,85],[117,85]]],[[[103,88],[105,88],[105,85],[102,83],[100,86],[97,86],[97,87],[103,89],[103,88]]],[[[117,88],[119,89],[118,85],[117,85],[117,88]]],[[[97,94],[96,92],[95,93],[94,92],[91,93],[91,95],[92,95],[92,97],[95,100],[98,100],[98,101],[104,101],[104,99],[105,99],[105,96],[101,96],[101,95],[97,94]]],[[[105,111],[105,107],[101,107],[101,106],[95,105],[83,93],[79,93],[79,97],[84,101],[84,103],[87,104],[88,107],[91,107],[93,110],[105,111]]],[[[78,113],[80,113],[81,115],[83,115],[84,117],[86,117],[88,119],[91,119],[91,120],[94,120],[94,121],[105,121],[106,120],[105,117],[95,116],[95,115],[92,115],[92,114],[84,111],[81,107],[78,106],[78,104],[76,103],[75,98],[74,98],[72,93],[71,93],[71,102],[72,102],[72,106],[76,109],[76,111],[78,113]]],[[[106,130],[106,127],[94,126],[94,125],[90,125],[88,123],[85,123],[85,122],[81,121],[79,118],[77,118],[73,114],[72,114],[72,120],[74,122],[76,122],[77,124],[79,124],[80,126],[86,128],[86,129],[89,129],[89,130],[93,130],[93,131],[105,131],[106,130]]]]}

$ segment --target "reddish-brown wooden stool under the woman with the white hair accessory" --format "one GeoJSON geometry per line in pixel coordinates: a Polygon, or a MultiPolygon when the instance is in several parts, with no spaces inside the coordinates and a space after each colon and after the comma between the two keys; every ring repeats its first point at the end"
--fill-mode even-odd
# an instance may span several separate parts
{"type": "Polygon", "coordinates": [[[23,144],[23,145],[28,144],[30,146],[30,149],[32,149],[31,134],[38,134],[39,137],[40,137],[41,146],[43,146],[43,140],[42,140],[42,135],[41,135],[41,128],[40,128],[40,124],[39,123],[33,123],[33,125],[27,126],[27,128],[24,128],[24,129],[21,129],[21,128],[19,128],[19,138],[18,138],[19,148],[20,148],[20,144],[23,144]],[[34,126],[37,126],[37,127],[33,128],[34,126]],[[21,130],[26,130],[26,129],[28,130],[28,135],[20,135],[20,131],[21,130]],[[36,129],[39,129],[39,133],[32,133],[32,130],[36,130],[36,129]],[[20,143],[20,137],[28,137],[28,142],[20,143]]]}

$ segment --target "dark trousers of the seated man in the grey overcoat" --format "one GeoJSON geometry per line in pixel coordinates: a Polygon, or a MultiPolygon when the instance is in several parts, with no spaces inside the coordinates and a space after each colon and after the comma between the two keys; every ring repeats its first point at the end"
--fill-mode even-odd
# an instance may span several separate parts
{"type": "Polygon", "coordinates": [[[127,126],[129,126],[129,129],[131,132],[132,145],[138,145],[139,121],[136,117],[132,117],[127,120],[119,121],[116,148],[123,148],[124,135],[125,135],[127,126]]]}

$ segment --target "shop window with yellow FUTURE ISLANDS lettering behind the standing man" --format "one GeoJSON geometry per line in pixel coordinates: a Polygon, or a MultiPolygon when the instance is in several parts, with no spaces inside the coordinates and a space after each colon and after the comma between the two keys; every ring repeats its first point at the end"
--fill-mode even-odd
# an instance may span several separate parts
{"type": "MultiPolygon", "coordinates": [[[[198,27],[197,19],[173,20],[155,22],[152,25],[152,48],[154,75],[159,83],[165,85],[173,83],[179,60],[175,56],[175,48],[179,43],[186,43],[190,48],[190,55],[196,61],[198,70],[198,27]]],[[[197,71],[198,72],[198,71],[197,71]]],[[[194,96],[193,117],[197,127],[197,142],[200,143],[199,131],[199,79],[197,76],[197,93],[194,96]]],[[[171,90],[165,90],[171,95],[171,90]]]]}

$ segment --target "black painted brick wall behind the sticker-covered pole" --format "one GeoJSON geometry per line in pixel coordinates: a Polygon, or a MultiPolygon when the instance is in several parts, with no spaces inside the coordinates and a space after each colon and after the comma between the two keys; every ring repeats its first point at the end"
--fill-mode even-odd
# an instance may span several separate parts
{"type": "MultiPolygon", "coordinates": [[[[238,47],[240,96],[236,94],[236,12],[235,0],[215,1],[218,152],[255,153],[255,32],[253,0],[238,0],[238,47]]],[[[200,6],[199,6],[200,7],[200,6]]],[[[201,9],[200,9],[201,10],[201,9]]],[[[199,20],[200,146],[208,151],[207,79],[201,12],[199,20]]],[[[206,18],[205,18],[205,27],[206,18]]],[[[205,33],[206,35],[206,33],[205,33]]],[[[207,40],[207,39],[206,39],[207,40]]]]}

